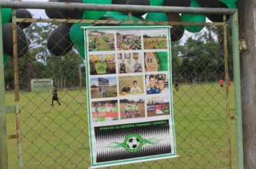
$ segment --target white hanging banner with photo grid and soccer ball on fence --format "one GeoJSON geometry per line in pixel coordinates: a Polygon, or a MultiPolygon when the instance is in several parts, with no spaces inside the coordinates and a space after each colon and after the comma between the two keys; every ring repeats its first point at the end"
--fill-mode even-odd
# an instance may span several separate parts
{"type": "Polygon", "coordinates": [[[177,157],[169,26],[83,29],[91,168],[177,157]]]}

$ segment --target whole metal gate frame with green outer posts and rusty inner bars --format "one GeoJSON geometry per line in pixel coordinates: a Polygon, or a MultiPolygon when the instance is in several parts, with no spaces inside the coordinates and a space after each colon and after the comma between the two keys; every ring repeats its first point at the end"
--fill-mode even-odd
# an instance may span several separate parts
{"type": "MultiPolygon", "coordinates": [[[[225,60],[225,79],[228,81],[228,64],[227,64],[227,21],[226,15],[232,16],[232,52],[234,64],[234,90],[235,90],[235,115],[237,131],[237,168],[244,168],[243,143],[242,143],[242,105],[241,105],[241,85],[240,85],[240,66],[239,66],[239,34],[238,34],[238,15],[237,9],[220,9],[220,8],[193,8],[193,7],[175,7],[175,6],[129,6],[129,5],[104,5],[104,4],[73,4],[59,2],[25,2],[25,1],[0,1],[0,23],[1,8],[12,8],[12,25],[13,25],[13,46],[14,46],[14,90],[15,106],[12,111],[16,115],[17,134],[6,135],[6,114],[9,113],[5,105],[5,84],[4,84],[4,52],[2,26],[0,24],[0,166],[8,168],[7,139],[17,138],[19,168],[22,168],[22,150],[21,150],[21,130],[20,130],[20,108],[19,108],[19,76],[18,76],[18,58],[17,58],[17,22],[55,22],[55,23],[91,23],[91,24],[167,24],[167,25],[217,25],[223,26],[224,31],[224,60],[225,60]],[[88,19],[17,19],[16,9],[65,9],[80,11],[121,11],[128,12],[128,21],[117,20],[88,20],[88,19]],[[221,14],[224,16],[224,22],[200,23],[200,22],[153,22],[153,21],[132,21],[132,12],[160,12],[160,13],[190,13],[190,14],[221,14]]],[[[227,87],[228,89],[228,87],[227,87]]],[[[230,147],[230,113],[229,113],[229,91],[226,90],[227,99],[227,132],[229,141],[229,168],[231,164],[231,147],[230,147]]]]}

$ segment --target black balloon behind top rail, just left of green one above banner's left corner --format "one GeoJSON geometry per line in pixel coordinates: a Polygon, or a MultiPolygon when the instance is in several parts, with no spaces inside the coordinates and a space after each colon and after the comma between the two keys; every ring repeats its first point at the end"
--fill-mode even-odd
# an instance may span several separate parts
{"type": "MultiPolygon", "coordinates": [[[[83,0],[58,0],[58,2],[70,2],[70,3],[81,3],[83,4],[83,0]]],[[[64,19],[82,19],[83,17],[83,11],[78,10],[59,10],[61,16],[63,16],[64,19]]]]}

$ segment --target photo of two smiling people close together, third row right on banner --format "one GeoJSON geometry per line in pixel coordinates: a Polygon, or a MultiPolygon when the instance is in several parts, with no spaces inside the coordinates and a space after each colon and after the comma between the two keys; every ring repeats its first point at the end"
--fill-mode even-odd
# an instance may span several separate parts
{"type": "Polygon", "coordinates": [[[167,74],[147,74],[145,79],[147,95],[170,93],[167,74]]]}

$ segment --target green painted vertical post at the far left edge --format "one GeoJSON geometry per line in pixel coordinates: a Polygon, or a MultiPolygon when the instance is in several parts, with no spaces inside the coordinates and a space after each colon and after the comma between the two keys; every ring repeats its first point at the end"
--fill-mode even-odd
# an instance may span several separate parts
{"type": "Polygon", "coordinates": [[[5,112],[5,85],[4,85],[4,51],[1,26],[0,8],[0,168],[8,168],[6,112],[5,112]]]}

